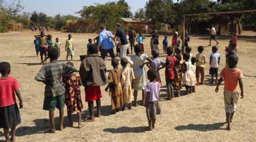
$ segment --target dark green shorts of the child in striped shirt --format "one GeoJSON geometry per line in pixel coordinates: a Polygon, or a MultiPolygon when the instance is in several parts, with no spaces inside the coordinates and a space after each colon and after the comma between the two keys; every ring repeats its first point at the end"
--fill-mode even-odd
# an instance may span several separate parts
{"type": "Polygon", "coordinates": [[[44,106],[43,110],[46,111],[54,111],[55,107],[59,110],[62,110],[65,106],[65,94],[51,97],[51,96],[44,96],[44,106]]]}

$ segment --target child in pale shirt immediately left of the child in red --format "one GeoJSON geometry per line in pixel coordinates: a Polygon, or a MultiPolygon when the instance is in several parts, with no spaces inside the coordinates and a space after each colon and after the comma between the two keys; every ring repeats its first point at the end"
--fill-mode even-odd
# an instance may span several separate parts
{"type": "Polygon", "coordinates": [[[165,68],[165,62],[161,59],[159,59],[159,51],[157,49],[153,49],[152,53],[153,57],[151,57],[151,60],[153,61],[152,63],[150,64],[147,64],[148,65],[148,68],[149,69],[153,69],[156,71],[156,81],[160,83],[160,85],[162,86],[162,82],[161,82],[161,77],[160,77],[160,73],[159,71],[163,68],[165,68]],[[162,66],[160,68],[160,66],[162,66]]]}

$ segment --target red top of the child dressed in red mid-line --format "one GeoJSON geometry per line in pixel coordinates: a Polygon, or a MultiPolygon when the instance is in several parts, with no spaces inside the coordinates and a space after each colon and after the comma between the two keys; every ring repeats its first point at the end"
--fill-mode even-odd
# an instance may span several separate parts
{"type": "Polygon", "coordinates": [[[179,62],[175,56],[167,56],[166,63],[171,63],[170,70],[165,70],[165,78],[166,79],[174,79],[174,65],[176,62],[179,62]]]}

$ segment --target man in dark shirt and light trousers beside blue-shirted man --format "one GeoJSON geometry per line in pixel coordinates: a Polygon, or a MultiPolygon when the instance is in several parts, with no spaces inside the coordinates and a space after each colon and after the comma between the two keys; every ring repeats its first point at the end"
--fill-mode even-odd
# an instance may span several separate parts
{"type": "Polygon", "coordinates": [[[115,29],[117,30],[115,35],[115,43],[120,43],[120,59],[122,59],[123,57],[126,57],[126,52],[129,47],[129,43],[126,38],[125,31],[121,28],[120,23],[116,23],[115,29]],[[120,41],[116,41],[116,37],[119,37],[120,41]]]}

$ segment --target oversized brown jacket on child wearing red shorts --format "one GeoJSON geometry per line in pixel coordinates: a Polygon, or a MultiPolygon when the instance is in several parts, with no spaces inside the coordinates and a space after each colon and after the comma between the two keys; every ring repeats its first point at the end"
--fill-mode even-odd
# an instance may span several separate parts
{"type": "Polygon", "coordinates": [[[98,54],[86,56],[79,69],[83,86],[103,86],[108,83],[105,75],[106,64],[98,54]]]}

